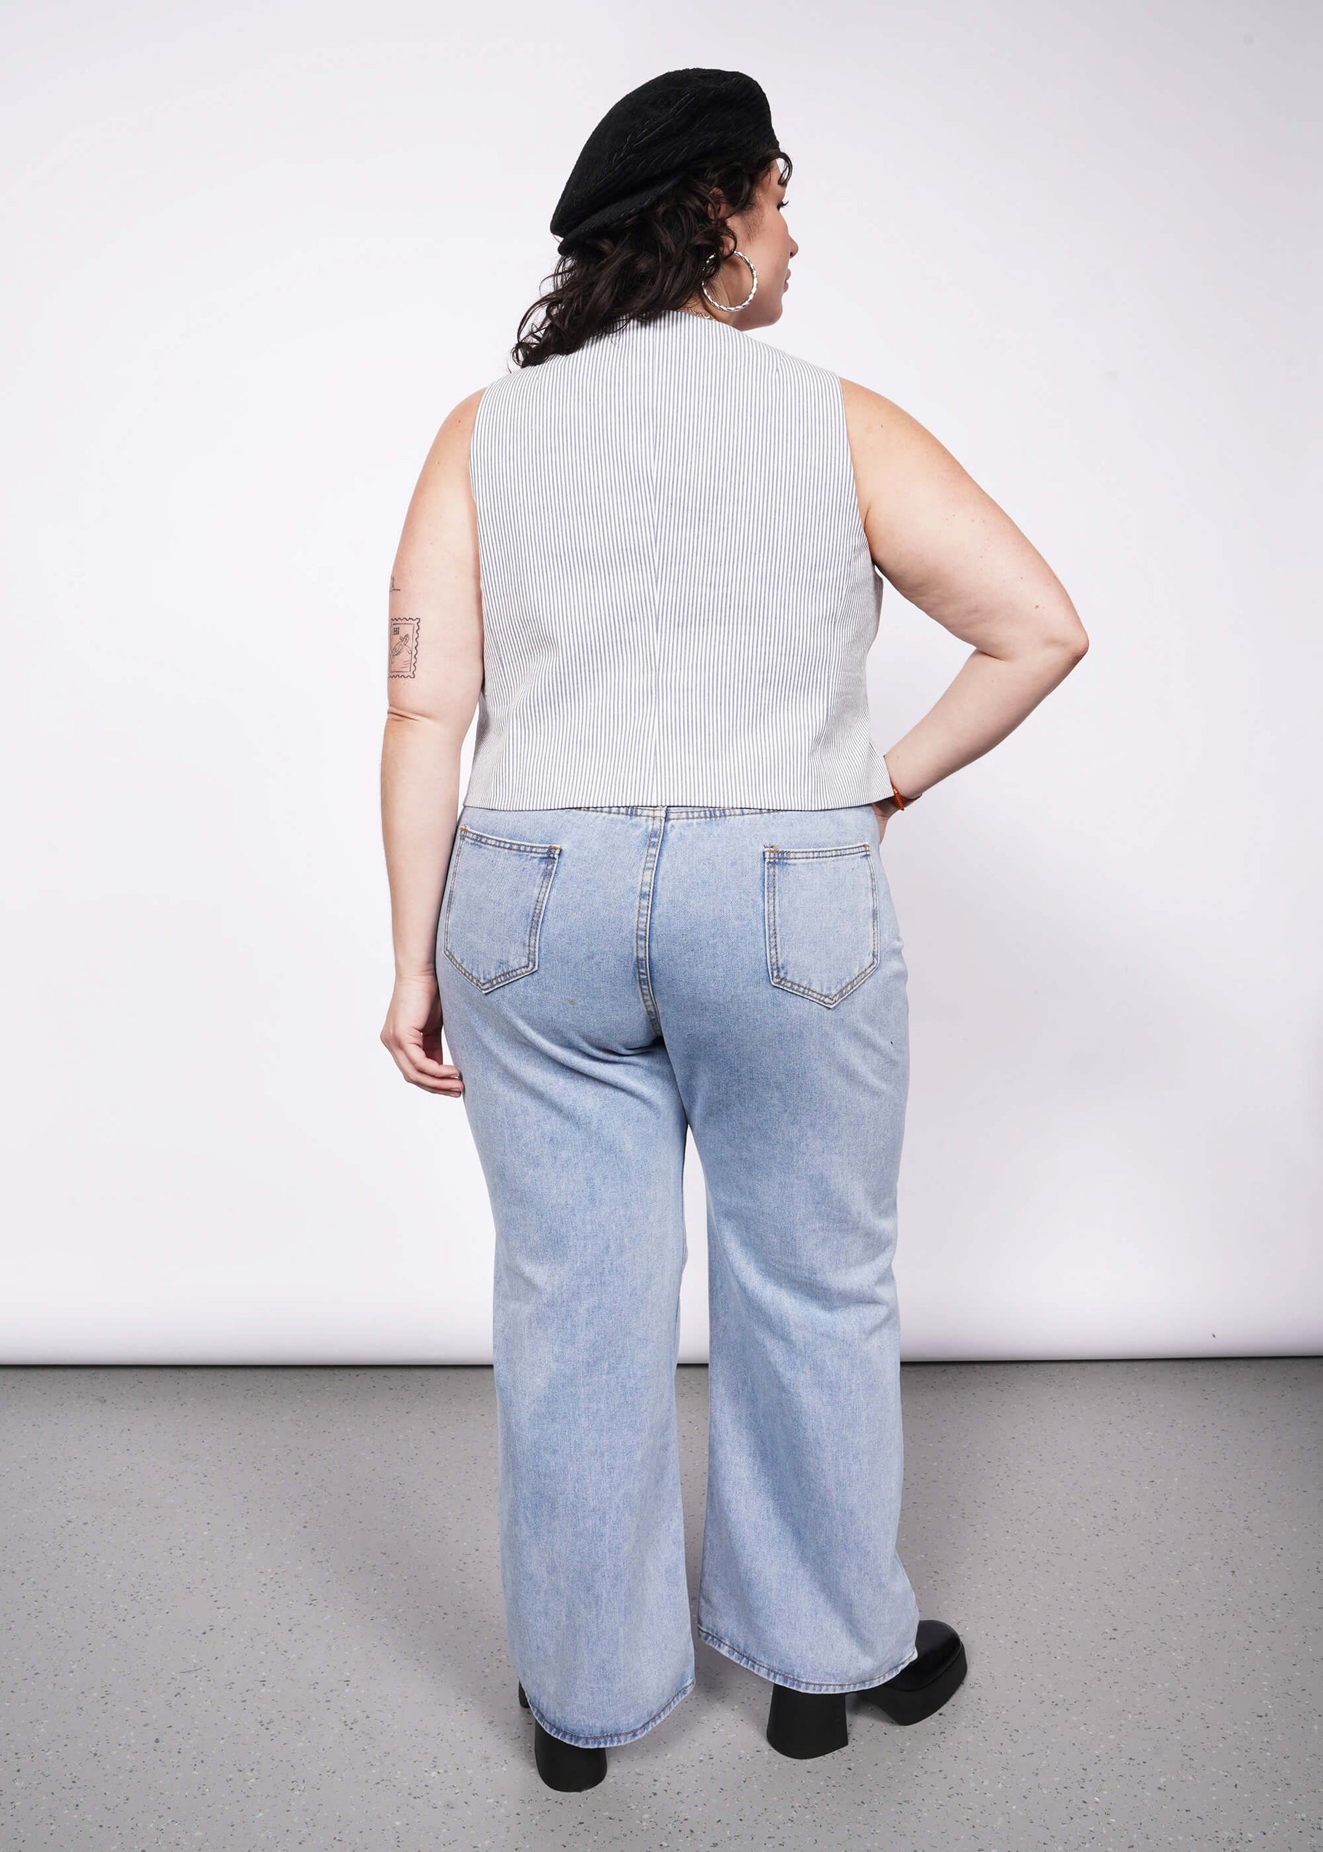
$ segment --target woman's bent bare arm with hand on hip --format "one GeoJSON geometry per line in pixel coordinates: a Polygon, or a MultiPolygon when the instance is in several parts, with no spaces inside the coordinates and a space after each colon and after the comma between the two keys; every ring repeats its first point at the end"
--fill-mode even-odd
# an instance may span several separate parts
{"type": "Polygon", "coordinates": [[[889,398],[849,380],[841,387],[873,559],[902,596],[973,646],[951,687],[886,754],[908,798],[1012,733],[1090,639],[1052,569],[951,452],[889,398]]]}

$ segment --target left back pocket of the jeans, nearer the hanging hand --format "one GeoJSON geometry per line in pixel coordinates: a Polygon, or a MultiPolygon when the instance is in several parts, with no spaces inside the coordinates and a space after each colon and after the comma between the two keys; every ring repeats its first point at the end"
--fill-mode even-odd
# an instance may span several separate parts
{"type": "Polygon", "coordinates": [[[495,991],[537,970],[537,935],[560,846],[460,824],[441,945],[456,970],[495,991]]]}

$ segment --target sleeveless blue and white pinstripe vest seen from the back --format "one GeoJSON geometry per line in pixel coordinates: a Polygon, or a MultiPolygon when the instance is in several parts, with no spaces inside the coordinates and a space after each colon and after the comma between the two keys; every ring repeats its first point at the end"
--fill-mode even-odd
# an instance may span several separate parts
{"type": "Polygon", "coordinates": [[[882,580],[836,374],[674,309],[489,385],[469,470],[467,804],[889,795],[863,678],[882,580]]]}

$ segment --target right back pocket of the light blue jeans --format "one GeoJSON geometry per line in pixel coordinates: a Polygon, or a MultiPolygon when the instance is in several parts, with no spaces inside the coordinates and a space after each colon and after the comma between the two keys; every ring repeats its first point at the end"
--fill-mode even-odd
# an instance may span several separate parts
{"type": "Polygon", "coordinates": [[[832,1009],[878,967],[878,883],[867,843],[763,848],[767,976],[832,1009]]]}

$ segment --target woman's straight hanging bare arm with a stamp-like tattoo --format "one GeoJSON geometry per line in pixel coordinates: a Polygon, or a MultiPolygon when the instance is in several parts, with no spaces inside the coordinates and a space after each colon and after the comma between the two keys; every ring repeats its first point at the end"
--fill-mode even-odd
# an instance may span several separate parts
{"type": "Polygon", "coordinates": [[[460,813],[460,750],[482,687],[478,519],[469,437],[482,393],[450,413],[422,465],[391,569],[382,837],[395,995],[382,1041],[406,1080],[461,1093],[441,1059],[435,937],[460,813]]]}

